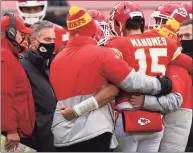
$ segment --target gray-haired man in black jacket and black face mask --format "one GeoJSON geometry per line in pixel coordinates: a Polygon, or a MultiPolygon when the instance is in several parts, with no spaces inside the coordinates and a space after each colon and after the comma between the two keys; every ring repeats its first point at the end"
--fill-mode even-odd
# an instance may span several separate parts
{"type": "Polygon", "coordinates": [[[20,61],[30,80],[36,109],[36,124],[29,145],[40,152],[54,151],[51,125],[56,107],[56,97],[49,81],[49,58],[55,49],[54,24],[42,20],[32,26],[29,51],[20,61]]]}

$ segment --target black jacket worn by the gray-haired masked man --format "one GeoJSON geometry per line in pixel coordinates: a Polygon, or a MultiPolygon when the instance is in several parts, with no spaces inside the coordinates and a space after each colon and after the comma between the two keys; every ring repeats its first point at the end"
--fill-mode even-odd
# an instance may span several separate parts
{"type": "Polygon", "coordinates": [[[38,151],[53,151],[49,149],[49,147],[53,145],[51,126],[57,101],[49,81],[49,68],[46,64],[46,60],[32,51],[21,54],[20,62],[29,78],[35,101],[35,135],[36,139],[38,139],[37,143],[44,145],[43,148],[40,146],[38,151]],[[50,143],[46,143],[45,141],[48,141],[49,137],[51,141],[50,143]]]}

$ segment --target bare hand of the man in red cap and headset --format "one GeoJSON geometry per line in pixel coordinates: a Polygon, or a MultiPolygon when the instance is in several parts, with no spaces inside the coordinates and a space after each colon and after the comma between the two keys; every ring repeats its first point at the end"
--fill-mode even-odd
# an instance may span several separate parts
{"type": "Polygon", "coordinates": [[[16,151],[17,147],[19,145],[19,142],[20,142],[20,137],[19,137],[18,133],[7,134],[7,141],[5,143],[5,150],[7,150],[7,152],[16,151]]]}

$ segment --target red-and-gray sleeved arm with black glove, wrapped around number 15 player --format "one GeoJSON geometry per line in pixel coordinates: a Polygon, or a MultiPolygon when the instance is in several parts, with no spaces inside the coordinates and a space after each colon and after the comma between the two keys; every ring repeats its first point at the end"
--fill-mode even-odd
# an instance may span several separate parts
{"type": "Polygon", "coordinates": [[[151,95],[164,95],[171,91],[171,82],[162,82],[143,73],[135,72],[128,64],[115,53],[104,48],[101,64],[101,74],[113,84],[127,92],[140,92],[151,95]]]}

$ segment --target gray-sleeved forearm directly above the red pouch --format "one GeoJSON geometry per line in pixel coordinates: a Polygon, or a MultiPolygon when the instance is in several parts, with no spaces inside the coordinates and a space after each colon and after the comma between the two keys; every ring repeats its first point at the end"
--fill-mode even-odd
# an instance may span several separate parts
{"type": "Polygon", "coordinates": [[[161,97],[146,95],[143,108],[149,111],[159,111],[162,114],[167,114],[179,109],[182,101],[183,98],[180,93],[170,93],[161,97]]]}

